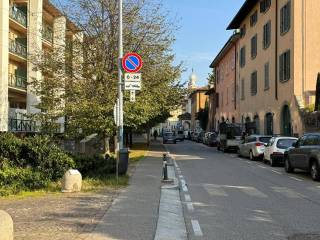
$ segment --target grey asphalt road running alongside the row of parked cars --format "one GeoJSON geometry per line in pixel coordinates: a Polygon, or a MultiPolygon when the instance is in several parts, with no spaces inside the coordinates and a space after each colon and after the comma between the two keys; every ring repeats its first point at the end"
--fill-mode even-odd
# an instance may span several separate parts
{"type": "Polygon", "coordinates": [[[176,160],[189,239],[320,239],[320,183],[190,141],[176,160]]]}

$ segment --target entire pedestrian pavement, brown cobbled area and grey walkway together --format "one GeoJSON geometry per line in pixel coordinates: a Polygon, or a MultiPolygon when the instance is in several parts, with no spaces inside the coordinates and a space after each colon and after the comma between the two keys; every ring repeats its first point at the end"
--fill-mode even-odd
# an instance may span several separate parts
{"type": "Polygon", "coordinates": [[[163,151],[159,143],[152,144],[148,156],[133,169],[126,189],[0,199],[0,209],[13,218],[14,239],[153,239],[163,151]]]}

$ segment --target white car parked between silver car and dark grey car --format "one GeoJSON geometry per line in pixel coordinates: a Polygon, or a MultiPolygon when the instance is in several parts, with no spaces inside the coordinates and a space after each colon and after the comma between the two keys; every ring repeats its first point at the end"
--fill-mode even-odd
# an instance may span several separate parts
{"type": "Polygon", "coordinates": [[[298,139],[293,137],[273,137],[264,151],[264,162],[269,162],[272,167],[283,163],[284,152],[292,147],[298,139]]]}

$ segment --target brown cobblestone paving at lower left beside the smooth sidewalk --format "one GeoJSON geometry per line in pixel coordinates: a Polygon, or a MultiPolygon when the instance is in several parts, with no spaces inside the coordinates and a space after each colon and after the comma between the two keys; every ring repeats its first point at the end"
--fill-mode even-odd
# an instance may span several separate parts
{"type": "Polygon", "coordinates": [[[80,240],[92,232],[119,191],[48,194],[24,199],[2,199],[0,209],[14,221],[15,240],[80,240]]]}

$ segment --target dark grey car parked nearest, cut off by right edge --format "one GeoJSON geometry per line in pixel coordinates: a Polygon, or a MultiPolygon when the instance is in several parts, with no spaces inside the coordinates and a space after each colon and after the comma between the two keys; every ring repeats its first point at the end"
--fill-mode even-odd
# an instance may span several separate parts
{"type": "Polygon", "coordinates": [[[288,173],[301,169],[311,173],[315,181],[320,180],[320,133],[309,133],[288,148],[284,154],[285,170],[288,173]]]}

